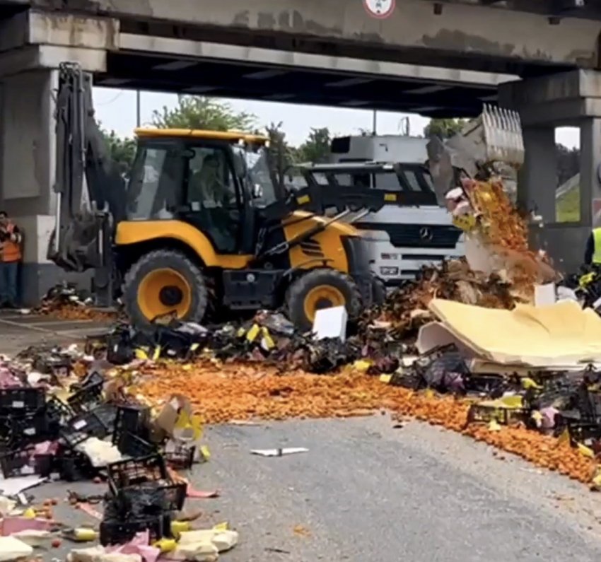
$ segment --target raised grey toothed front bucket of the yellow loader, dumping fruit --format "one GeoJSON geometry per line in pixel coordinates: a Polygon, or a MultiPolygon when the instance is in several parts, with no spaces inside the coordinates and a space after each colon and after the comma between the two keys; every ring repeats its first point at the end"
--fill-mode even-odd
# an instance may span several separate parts
{"type": "Polygon", "coordinates": [[[482,113],[469,121],[460,133],[446,141],[433,137],[427,151],[428,166],[440,202],[449,189],[457,187],[460,175],[490,175],[494,165],[505,165],[514,170],[523,165],[520,115],[484,105],[482,113]]]}

